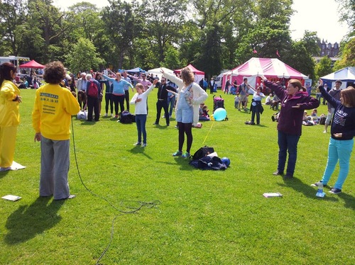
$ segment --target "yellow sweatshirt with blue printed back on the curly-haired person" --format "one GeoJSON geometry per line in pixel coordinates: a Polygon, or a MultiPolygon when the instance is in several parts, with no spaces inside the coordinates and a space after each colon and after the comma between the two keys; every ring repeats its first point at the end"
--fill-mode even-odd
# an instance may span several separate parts
{"type": "Polygon", "coordinates": [[[79,103],[69,89],[45,84],[35,93],[33,129],[51,140],[69,140],[71,116],[79,111],[79,103]]]}

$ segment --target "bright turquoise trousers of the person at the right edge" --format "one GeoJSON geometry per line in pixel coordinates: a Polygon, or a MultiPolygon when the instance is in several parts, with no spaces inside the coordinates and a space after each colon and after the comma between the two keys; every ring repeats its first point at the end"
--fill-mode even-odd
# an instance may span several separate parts
{"type": "Polygon", "coordinates": [[[330,138],[328,147],[328,162],[324,170],[322,182],[326,185],[332,176],[339,160],[339,175],[334,188],[342,189],[346,176],[349,174],[349,161],[353,150],[354,139],[335,140],[330,138]]]}

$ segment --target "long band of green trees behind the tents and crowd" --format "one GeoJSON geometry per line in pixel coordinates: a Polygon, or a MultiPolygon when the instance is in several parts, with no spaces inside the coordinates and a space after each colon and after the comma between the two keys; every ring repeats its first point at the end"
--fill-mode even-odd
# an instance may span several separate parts
{"type": "MultiPolygon", "coordinates": [[[[351,1],[338,0],[350,6],[351,1]]],[[[52,0],[0,2],[0,53],[45,64],[62,60],[72,71],[92,68],[181,68],[192,63],[207,77],[251,57],[280,57],[315,77],[317,33],[290,38],[292,0],[109,0],[98,9],[82,1],[62,11],[52,0]],[[89,59],[84,55],[87,54],[89,59]]],[[[342,19],[354,25],[354,15],[342,19]]],[[[349,35],[351,36],[351,35],[349,35]]],[[[354,40],[339,67],[354,63],[354,40]]]]}

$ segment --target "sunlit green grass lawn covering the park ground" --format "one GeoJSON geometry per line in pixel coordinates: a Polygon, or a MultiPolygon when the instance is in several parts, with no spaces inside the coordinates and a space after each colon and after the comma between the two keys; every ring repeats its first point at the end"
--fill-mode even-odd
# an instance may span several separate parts
{"type": "MultiPolygon", "coordinates": [[[[0,195],[22,197],[0,201],[0,264],[95,264],[107,246],[99,263],[355,264],[354,156],[343,193],[324,188],[327,196],[317,198],[310,186],[327,163],[323,125],[303,126],[295,178],[284,181],[272,175],[278,160],[273,111],[265,108],[260,126],[245,125],[251,115],[236,111],[234,96],[222,94],[229,120],[193,129],[192,152],[202,144],[214,147],[231,166],[201,171],[171,156],[178,147],[175,120],[168,128],[152,125],[153,91],[145,149],[133,146],[135,124],[73,118],[70,191],[77,197],[53,201],[38,197],[35,91],[22,90],[21,96],[15,160],[26,169],[0,174],[0,195]],[[283,198],[264,198],[265,192],[283,198]]],[[[212,101],[206,101],[211,110],[212,101]]],[[[326,106],[318,113],[327,113],[326,106]]]]}

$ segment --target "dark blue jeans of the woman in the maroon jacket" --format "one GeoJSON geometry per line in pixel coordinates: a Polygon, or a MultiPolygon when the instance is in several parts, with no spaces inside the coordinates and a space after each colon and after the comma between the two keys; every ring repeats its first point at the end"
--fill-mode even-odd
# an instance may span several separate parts
{"type": "Polygon", "coordinates": [[[297,143],[300,135],[290,135],[278,131],[278,171],[283,172],[288,152],[288,168],[286,174],[293,175],[297,160],[297,143]]]}

